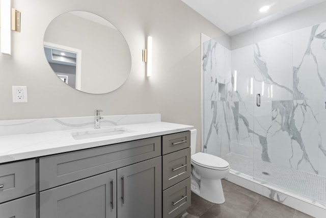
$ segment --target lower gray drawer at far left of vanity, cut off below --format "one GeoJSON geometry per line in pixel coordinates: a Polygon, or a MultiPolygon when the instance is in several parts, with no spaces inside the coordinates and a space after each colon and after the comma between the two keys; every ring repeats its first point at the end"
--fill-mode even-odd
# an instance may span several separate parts
{"type": "Polygon", "coordinates": [[[1,218],[35,218],[35,195],[0,204],[1,218]]]}

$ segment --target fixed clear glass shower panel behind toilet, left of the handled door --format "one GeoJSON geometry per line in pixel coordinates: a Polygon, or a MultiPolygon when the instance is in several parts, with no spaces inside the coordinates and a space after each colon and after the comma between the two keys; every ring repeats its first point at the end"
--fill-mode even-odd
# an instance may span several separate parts
{"type": "Polygon", "coordinates": [[[254,46],[230,51],[205,35],[202,40],[204,151],[252,177],[254,46]]]}

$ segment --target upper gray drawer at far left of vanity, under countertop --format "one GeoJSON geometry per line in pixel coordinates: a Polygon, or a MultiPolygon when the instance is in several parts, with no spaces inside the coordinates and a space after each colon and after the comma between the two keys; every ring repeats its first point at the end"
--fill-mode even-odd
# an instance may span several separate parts
{"type": "Polygon", "coordinates": [[[35,193],[35,159],[0,165],[0,203],[35,193]]]}

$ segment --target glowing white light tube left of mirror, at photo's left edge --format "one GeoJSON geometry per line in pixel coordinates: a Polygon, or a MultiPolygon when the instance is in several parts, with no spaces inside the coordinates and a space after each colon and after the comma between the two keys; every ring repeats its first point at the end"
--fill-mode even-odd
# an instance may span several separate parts
{"type": "Polygon", "coordinates": [[[11,55],[11,0],[1,0],[1,53],[11,55]]]}

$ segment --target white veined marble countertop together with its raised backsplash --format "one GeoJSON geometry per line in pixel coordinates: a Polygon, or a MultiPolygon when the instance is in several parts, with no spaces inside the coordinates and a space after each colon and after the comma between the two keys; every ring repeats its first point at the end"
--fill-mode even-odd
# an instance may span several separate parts
{"type": "Polygon", "coordinates": [[[19,129],[19,133],[13,132],[14,134],[0,136],[0,163],[183,132],[194,128],[188,125],[161,122],[160,114],[144,114],[108,116],[107,120],[113,120],[117,125],[108,122],[110,126],[102,125],[101,129],[94,129],[94,117],[92,118],[91,128],[88,127],[89,122],[85,122],[89,117],[63,118],[65,122],[59,123],[53,119],[37,119],[35,122],[31,122],[31,120],[2,120],[1,128],[16,127],[17,125],[20,127],[19,124],[22,127],[19,129]],[[30,129],[24,126],[31,123],[33,126],[29,126],[30,129]],[[48,131],[44,131],[44,129],[39,131],[39,124],[48,124],[49,126],[44,127],[48,131]],[[85,126],[87,128],[84,128],[85,126]],[[36,128],[32,129],[33,127],[36,128]],[[25,132],[23,132],[24,129],[25,132]],[[124,132],[123,134],[111,134],[112,131],[124,132]],[[103,132],[109,134],[102,134],[103,132]],[[89,137],[92,134],[95,134],[95,137],[89,137]]]}

